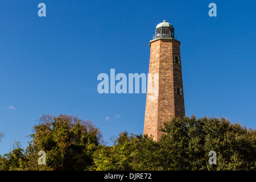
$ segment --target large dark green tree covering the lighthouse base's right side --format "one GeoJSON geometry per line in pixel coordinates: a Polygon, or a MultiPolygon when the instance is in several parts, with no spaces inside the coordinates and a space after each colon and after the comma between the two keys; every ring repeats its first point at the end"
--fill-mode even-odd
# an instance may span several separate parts
{"type": "Polygon", "coordinates": [[[174,118],[164,124],[159,140],[163,169],[255,170],[256,131],[225,118],[174,118]],[[216,151],[217,164],[208,163],[216,151]]]}

